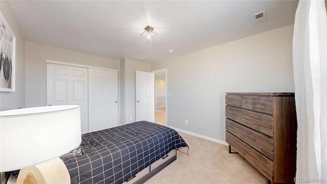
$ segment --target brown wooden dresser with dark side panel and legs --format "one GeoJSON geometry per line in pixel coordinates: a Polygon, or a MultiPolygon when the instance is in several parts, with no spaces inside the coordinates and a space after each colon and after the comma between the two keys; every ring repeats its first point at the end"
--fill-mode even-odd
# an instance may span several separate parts
{"type": "Polygon", "coordinates": [[[294,93],[227,93],[225,98],[229,153],[236,150],[268,183],[294,183],[294,93]]]}

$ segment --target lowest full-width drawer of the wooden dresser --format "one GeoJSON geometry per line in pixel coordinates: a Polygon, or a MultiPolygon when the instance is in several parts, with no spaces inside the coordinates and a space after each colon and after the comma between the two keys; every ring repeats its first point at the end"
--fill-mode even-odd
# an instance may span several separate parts
{"type": "Polygon", "coordinates": [[[242,155],[250,164],[252,164],[256,169],[258,169],[263,175],[268,179],[273,181],[273,162],[262,155],[255,149],[251,148],[249,145],[242,142],[236,136],[230,134],[226,131],[226,142],[233,148],[235,148],[240,155],[242,155]]]}

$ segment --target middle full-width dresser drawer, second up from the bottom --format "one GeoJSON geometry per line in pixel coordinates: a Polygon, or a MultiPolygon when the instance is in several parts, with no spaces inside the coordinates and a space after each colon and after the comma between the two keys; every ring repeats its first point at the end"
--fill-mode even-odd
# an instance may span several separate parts
{"type": "Polygon", "coordinates": [[[226,119],[226,130],[270,159],[273,159],[272,138],[228,119],[226,119]]]}

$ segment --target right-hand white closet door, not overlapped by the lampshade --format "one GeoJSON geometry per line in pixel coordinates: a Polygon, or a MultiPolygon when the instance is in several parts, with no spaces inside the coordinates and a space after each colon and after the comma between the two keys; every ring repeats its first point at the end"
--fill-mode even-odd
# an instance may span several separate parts
{"type": "Polygon", "coordinates": [[[88,69],[89,132],[118,126],[118,72],[88,69]]]}

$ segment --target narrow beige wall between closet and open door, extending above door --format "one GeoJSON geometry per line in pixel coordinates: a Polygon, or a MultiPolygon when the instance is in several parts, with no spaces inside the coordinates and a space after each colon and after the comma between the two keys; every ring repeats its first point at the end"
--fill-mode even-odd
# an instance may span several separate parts
{"type": "Polygon", "coordinates": [[[134,59],[125,58],[121,60],[121,79],[122,79],[122,88],[121,88],[121,124],[135,122],[135,71],[150,72],[151,64],[137,61],[134,59]],[[123,113],[124,116],[123,116],[123,113]],[[132,117],[132,120],[130,120],[132,117]]]}

